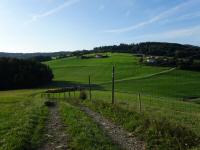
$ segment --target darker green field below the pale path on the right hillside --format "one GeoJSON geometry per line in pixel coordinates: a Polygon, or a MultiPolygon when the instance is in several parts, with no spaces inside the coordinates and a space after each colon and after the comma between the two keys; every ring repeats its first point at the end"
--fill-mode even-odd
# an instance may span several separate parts
{"type": "Polygon", "coordinates": [[[149,79],[116,83],[116,88],[126,92],[142,92],[164,97],[199,97],[199,78],[198,72],[175,70],[149,79]]]}

